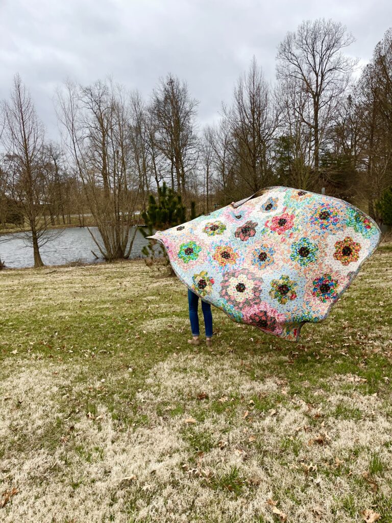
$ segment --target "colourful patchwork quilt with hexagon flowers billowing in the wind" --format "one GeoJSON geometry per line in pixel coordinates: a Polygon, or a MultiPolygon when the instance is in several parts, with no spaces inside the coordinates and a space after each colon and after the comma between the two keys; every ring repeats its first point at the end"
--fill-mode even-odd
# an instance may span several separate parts
{"type": "Polygon", "coordinates": [[[327,317],[380,236],[345,201],[269,187],[150,237],[204,301],[236,322],[296,341],[304,323],[327,317]]]}

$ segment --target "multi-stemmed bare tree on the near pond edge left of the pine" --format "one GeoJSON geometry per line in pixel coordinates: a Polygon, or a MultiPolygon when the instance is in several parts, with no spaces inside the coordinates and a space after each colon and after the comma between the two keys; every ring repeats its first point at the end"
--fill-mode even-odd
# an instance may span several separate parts
{"type": "Polygon", "coordinates": [[[90,234],[105,259],[128,258],[141,187],[139,173],[132,168],[128,97],[121,86],[97,81],[87,87],[68,82],[58,98],[71,165],[82,180],[101,238],[91,229],[90,234]]]}

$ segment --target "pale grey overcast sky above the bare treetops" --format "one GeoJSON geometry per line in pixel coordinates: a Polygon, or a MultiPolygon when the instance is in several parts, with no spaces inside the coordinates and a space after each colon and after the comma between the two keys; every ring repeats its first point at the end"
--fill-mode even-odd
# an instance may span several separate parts
{"type": "Polygon", "coordinates": [[[69,77],[112,75],[147,97],[169,71],[188,82],[199,118],[212,122],[253,54],[275,75],[276,47],[304,19],[332,18],[356,38],[366,63],[392,25],[390,0],[0,0],[0,98],[18,72],[48,135],[57,138],[53,95],[69,77]]]}

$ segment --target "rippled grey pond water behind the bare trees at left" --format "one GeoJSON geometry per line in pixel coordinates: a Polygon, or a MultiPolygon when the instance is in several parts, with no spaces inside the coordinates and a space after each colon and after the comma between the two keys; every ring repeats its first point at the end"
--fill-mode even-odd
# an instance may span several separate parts
{"type": "MultiPolygon", "coordinates": [[[[94,235],[100,238],[96,227],[91,227],[94,235]]],[[[57,230],[55,233],[59,232],[57,230]]],[[[51,231],[48,231],[51,234],[51,231]]],[[[132,237],[132,231],[130,231],[132,237]]],[[[143,257],[142,248],[148,244],[143,234],[138,230],[131,251],[130,258],[143,257]]],[[[49,241],[40,248],[41,258],[45,265],[64,265],[72,261],[83,263],[97,263],[104,261],[102,257],[95,258],[94,251],[100,256],[99,249],[91,238],[87,227],[73,227],[63,229],[54,240],[49,241]]],[[[0,258],[5,262],[6,268],[21,269],[34,265],[31,245],[26,242],[25,233],[13,233],[0,237],[0,258]],[[6,240],[6,241],[4,241],[6,240]]]]}

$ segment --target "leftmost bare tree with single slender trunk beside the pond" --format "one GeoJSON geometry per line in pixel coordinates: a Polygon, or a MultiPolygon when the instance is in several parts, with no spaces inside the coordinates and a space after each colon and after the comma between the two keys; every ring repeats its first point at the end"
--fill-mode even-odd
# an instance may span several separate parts
{"type": "Polygon", "coordinates": [[[56,235],[48,232],[50,218],[45,214],[51,193],[44,172],[44,128],[19,75],[14,77],[10,99],[2,103],[2,113],[8,196],[22,209],[31,230],[24,234],[33,247],[34,267],[41,267],[40,247],[56,235]]]}

